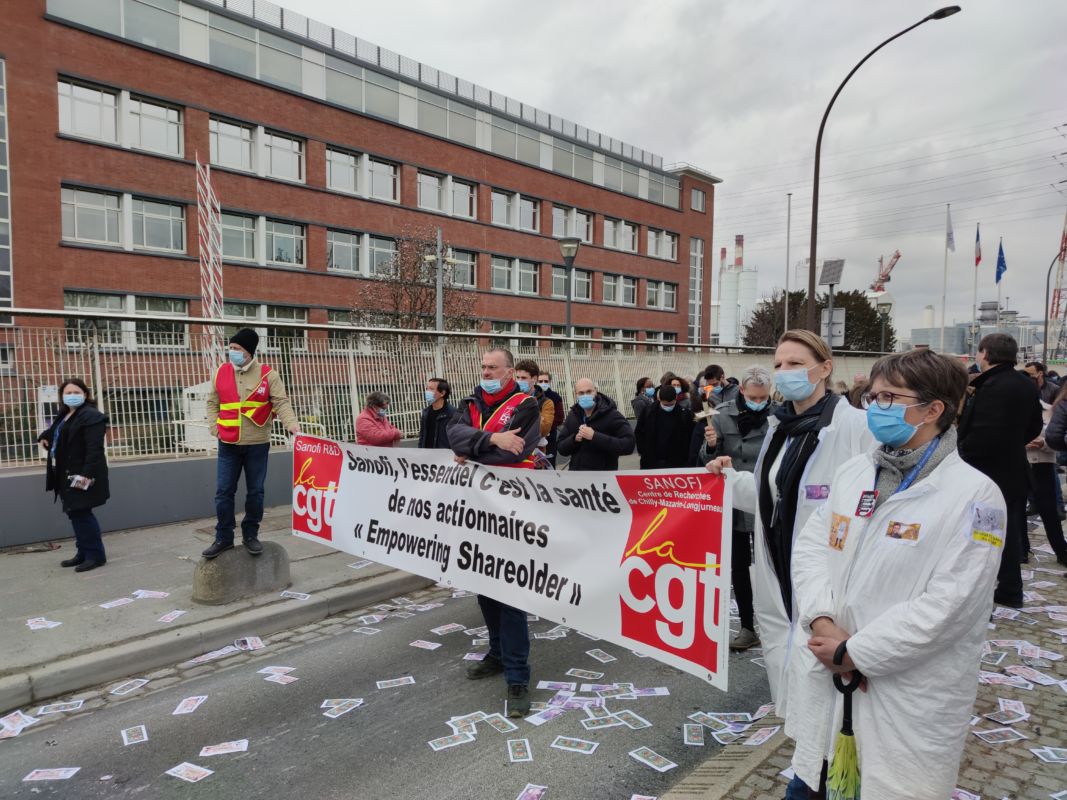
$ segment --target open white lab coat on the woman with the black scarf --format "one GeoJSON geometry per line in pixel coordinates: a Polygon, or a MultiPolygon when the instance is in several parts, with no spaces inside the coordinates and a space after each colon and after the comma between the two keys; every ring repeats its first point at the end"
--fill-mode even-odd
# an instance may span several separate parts
{"type": "MultiPolygon", "coordinates": [[[[803,645],[808,637],[802,631],[794,633],[795,624],[785,614],[785,604],[782,603],[778,578],[775,576],[775,569],[767,551],[767,542],[764,539],[763,521],[760,518],[757,480],[758,476],[762,474],[763,459],[777,427],[778,419],[770,415],[767,418],[767,435],[763,441],[763,449],[755,462],[754,471],[734,473],[731,469],[727,470],[727,474],[733,485],[734,508],[755,516],[755,546],[751,567],[752,599],[755,607],[755,621],[760,627],[760,640],[763,643],[763,660],[767,668],[767,679],[770,682],[770,698],[775,701],[778,716],[785,719],[789,711],[789,686],[785,675],[790,652],[797,644],[797,641],[803,645]]],[[[805,523],[808,522],[808,517],[826,502],[825,499],[809,499],[807,487],[832,487],[833,474],[838,467],[854,455],[866,452],[874,445],[874,436],[871,435],[866,425],[866,414],[853,407],[842,398],[833,410],[830,423],[819,431],[818,445],[805,467],[798,489],[797,515],[793,527],[794,542],[796,542],[796,537],[805,523]]],[[[796,605],[794,599],[794,618],[796,617],[796,605]]]]}

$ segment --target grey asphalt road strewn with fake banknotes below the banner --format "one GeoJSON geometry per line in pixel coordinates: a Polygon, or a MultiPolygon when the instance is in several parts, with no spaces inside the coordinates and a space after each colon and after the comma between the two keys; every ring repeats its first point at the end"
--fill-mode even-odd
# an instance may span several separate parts
{"type": "MultiPolygon", "coordinates": [[[[765,674],[750,660],[758,652],[731,657],[732,688],[724,694],[650,658],[571,631],[563,639],[534,640],[532,686],[538,681],[577,681],[564,674],[571,668],[603,672],[603,683],[665,686],[669,697],[608,702],[611,710],[631,708],[652,727],[586,731],[580,725],[585,713],[571,710],[541,726],[517,720],[520,730],[509,734],[482,723],[475,741],[434,752],[427,741],[451,733],[446,724],[450,717],[504,713],[506,687],[500,678],[465,678],[463,654],[484,650],[472,646],[471,636],[430,633],[452,622],[468,628],[482,625],[474,597],[452,599],[448,592],[431,590],[417,599],[444,605],[411,619],[389,617],[375,625],[381,633],[373,636],[352,631],[361,624],[354,619],[361,612],[341,618],[346,625],[339,630],[338,618],[332,618],[301,629],[306,633],[298,638],[304,641],[268,639],[266,650],[242,663],[219,666],[155,692],[149,684],[141,697],[121,702],[108,697],[107,704],[91,713],[28,727],[0,741],[0,797],[514,800],[527,783],[535,783],[548,787],[545,800],[630,800],[634,794],[664,794],[718,748],[710,732],[704,747],[683,743],[686,715],[698,709],[754,711],[768,701],[765,674]],[[322,635],[321,628],[330,626],[336,633],[322,635]],[[443,646],[410,646],[416,639],[443,646]],[[593,647],[618,660],[599,663],[586,655],[593,647]],[[268,683],[256,672],[268,665],[293,667],[291,674],[299,679],[268,683]],[[376,687],[377,681],[404,675],[413,676],[415,684],[376,687]],[[208,699],[193,714],[172,715],[184,698],[198,694],[208,699]],[[363,698],[365,704],[329,719],[320,705],[330,698],[363,698]],[[124,747],[120,732],[141,724],[147,727],[148,741],[124,747]],[[551,747],[557,736],[600,746],[591,755],[563,752],[551,747]],[[200,755],[202,747],[244,738],[248,752],[200,755]],[[512,738],[529,739],[531,762],[510,763],[507,741],[512,738]],[[660,774],[637,763],[627,753],[640,746],[678,768],[660,774]],[[182,762],[214,773],[196,784],[164,774],[182,762]],[[22,782],[32,769],[53,767],[81,770],[67,781],[22,782]]],[[[362,613],[367,612],[377,613],[362,613]]],[[[530,629],[545,631],[554,625],[541,620],[531,622],[530,629]]],[[[531,693],[535,701],[554,694],[531,693]]],[[[36,707],[23,710],[33,714],[36,707]]]]}

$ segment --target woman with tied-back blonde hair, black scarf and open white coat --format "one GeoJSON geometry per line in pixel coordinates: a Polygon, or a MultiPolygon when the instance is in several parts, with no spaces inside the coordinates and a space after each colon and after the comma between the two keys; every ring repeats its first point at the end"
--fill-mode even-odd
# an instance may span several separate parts
{"type": "MultiPolygon", "coordinates": [[[[790,652],[807,639],[795,631],[793,542],[808,517],[826,502],[838,467],[869,450],[874,438],[863,412],[830,390],[833,358],[822,338],[810,331],[786,331],[775,350],[775,388],[785,402],[767,419],[755,469],[726,471],[734,508],[755,516],[755,622],[770,697],[778,715],[785,718],[790,652]]],[[[707,468],[714,473],[729,465],[729,459],[716,459],[707,468]]]]}

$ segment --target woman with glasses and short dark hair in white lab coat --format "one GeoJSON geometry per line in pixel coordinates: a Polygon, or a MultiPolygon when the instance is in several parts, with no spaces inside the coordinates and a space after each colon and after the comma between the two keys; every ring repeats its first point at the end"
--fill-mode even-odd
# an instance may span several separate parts
{"type": "Polygon", "coordinates": [[[1000,490],[956,452],[966,388],[964,367],[930,351],[875,364],[866,413],[882,444],[841,466],[797,539],[807,641],[792,663],[787,798],[818,785],[841,720],[832,672],[853,669],[866,679],[853,695],[863,800],[952,794],[1006,518],[1000,490]]]}

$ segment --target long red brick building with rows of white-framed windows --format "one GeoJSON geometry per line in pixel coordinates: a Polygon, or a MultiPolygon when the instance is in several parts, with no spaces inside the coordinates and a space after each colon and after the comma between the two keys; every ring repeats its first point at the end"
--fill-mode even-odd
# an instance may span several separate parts
{"type": "Polygon", "coordinates": [[[347,320],[428,224],[482,330],[562,333],[578,236],[576,335],[710,340],[706,173],[258,0],[7,6],[0,306],[200,316],[198,156],[235,324],[347,320]]]}

